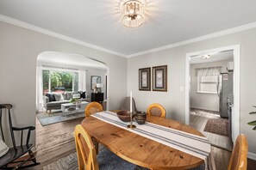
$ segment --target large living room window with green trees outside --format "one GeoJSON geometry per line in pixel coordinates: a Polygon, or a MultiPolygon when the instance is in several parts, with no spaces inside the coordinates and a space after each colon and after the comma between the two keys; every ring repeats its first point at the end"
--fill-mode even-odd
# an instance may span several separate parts
{"type": "Polygon", "coordinates": [[[43,94],[48,92],[78,91],[78,72],[42,70],[43,94]]]}

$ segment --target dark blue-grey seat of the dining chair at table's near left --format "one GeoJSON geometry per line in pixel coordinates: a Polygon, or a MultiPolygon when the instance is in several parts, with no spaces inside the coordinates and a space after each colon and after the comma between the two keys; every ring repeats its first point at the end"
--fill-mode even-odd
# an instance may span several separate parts
{"type": "Polygon", "coordinates": [[[97,161],[99,164],[99,169],[101,170],[120,170],[136,169],[136,165],[123,160],[119,156],[112,153],[109,149],[102,149],[97,155],[97,161]]]}

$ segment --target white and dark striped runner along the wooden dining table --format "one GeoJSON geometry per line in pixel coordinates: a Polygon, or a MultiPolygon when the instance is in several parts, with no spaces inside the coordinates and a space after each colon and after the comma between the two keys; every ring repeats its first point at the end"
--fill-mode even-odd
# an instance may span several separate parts
{"type": "Polygon", "coordinates": [[[135,129],[128,129],[129,123],[122,122],[115,112],[97,112],[91,115],[109,124],[116,125],[127,131],[134,132],[142,137],[147,137],[158,143],[165,144],[166,146],[178,149],[184,153],[197,156],[205,161],[206,168],[211,169],[209,166],[209,153],[211,151],[210,143],[206,137],[199,137],[184,131],[174,130],[159,124],[137,124],[135,129]]]}

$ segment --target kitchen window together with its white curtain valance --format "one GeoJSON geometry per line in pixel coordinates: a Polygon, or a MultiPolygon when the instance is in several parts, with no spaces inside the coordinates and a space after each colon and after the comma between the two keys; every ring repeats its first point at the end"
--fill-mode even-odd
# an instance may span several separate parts
{"type": "Polygon", "coordinates": [[[197,93],[217,94],[222,67],[197,69],[197,93]]]}

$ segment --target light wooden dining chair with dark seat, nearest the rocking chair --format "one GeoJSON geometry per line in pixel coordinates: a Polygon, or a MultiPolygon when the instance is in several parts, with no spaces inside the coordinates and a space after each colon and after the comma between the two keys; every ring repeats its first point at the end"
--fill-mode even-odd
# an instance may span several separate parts
{"type": "Polygon", "coordinates": [[[91,136],[81,124],[75,128],[75,142],[78,155],[79,170],[119,170],[135,169],[136,165],[122,160],[109,149],[103,149],[96,155],[96,149],[92,143],[91,136]]]}

